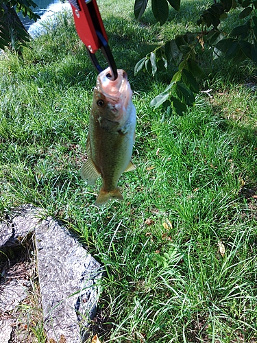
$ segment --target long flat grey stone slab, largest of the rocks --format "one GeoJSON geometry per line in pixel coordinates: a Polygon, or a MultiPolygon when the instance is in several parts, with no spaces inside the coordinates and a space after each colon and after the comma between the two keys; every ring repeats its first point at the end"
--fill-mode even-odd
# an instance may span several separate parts
{"type": "Polygon", "coordinates": [[[82,342],[79,322],[95,316],[101,265],[51,217],[36,226],[36,249],[47,337],[82,342]]]}

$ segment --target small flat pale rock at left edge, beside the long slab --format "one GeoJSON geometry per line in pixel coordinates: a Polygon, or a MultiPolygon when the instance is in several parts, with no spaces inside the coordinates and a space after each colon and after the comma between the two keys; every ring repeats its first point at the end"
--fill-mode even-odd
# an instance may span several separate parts
{"type": "Polygon", "coordinates": [[[29,285],[29,281],[23,279],[12,280],[1,285],[0,311],[5,312],[15,309],[26,298],[29,285]]]}

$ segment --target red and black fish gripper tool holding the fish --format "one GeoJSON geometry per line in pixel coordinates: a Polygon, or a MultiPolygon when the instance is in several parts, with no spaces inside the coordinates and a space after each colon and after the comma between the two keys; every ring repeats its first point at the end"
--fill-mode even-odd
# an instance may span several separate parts
{"type": "Polygon", "coordinates": [[[103,71],[95,56],[97,50],[101,49],[112,72],[110,79],[116,80],[118,77],[117,67],[108,45],[108,37],[96,0],[69,0],[69,2],[73,10],[77,34],[84,45],[86,45],[89,58],[95,69],[99,73],[103,71]]]}

